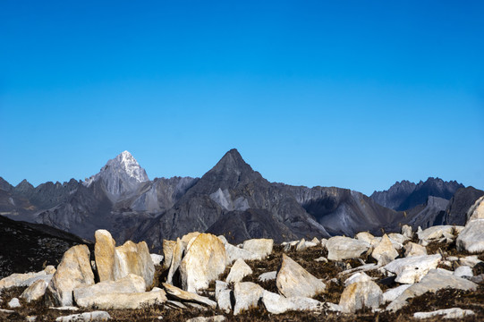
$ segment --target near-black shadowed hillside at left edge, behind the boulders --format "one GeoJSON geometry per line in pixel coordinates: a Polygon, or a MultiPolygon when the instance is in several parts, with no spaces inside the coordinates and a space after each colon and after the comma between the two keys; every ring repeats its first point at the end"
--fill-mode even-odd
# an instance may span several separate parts
{"type": "Polygon", "coordinates": [[[64,252],[77,244],[93,245],[47,225],[13,221],[0,216],[0,278],[13,273],[42,270],[57,265],[64,252]]]}

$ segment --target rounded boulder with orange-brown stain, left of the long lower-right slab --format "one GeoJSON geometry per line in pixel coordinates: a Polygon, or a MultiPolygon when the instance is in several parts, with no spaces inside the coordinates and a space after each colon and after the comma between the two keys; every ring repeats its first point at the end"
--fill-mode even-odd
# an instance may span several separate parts
{"type": "Polygon", "coordinates": [[[346,313],[354,313],[363,308],[377,309],[382,297],[383,292],[375,282],[357,282],[344,289],[339,306],[346,313]]]}

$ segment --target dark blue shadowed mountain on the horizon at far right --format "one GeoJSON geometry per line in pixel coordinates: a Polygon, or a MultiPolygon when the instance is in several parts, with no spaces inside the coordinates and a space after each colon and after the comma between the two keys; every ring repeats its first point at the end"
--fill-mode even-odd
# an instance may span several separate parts
{"type": "Polygon", "coordinates": [[[455,191],[464,188],[463,184],[440,178],[429,178],[426,182],[395,182],[387,191],[375,191],[370,198],[386,208],[405,211],[427,203],[429,196],[451,199],[455,191]]]}

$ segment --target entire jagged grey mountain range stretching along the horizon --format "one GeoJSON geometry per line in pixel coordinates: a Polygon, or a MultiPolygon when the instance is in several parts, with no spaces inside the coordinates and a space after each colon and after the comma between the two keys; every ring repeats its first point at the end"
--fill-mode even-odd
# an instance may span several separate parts
{"type": "Polygon", "coordinates": [[[401,225],[463,225],[465,212],[484,191],[429,178],[396,182],[370,197],[335,187],[268,182],[236,149],[201,178],[149,180],[124,151],[84,181],[13,187],[0,178],[0,215],[44,224],[92,240],[97,229],[116,242],[164,239],[192,231],[224,234],[229,242],[272,238],[352,236],[360,231],[399,232],[401,225]]]}

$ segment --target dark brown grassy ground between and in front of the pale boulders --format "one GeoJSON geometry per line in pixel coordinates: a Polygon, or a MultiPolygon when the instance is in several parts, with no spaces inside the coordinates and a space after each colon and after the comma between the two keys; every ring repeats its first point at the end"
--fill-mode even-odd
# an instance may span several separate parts
{"type": "MultiPolygon", "coordinates": [[[[454,244],[432,243],[428,247],[429,253],[441,252],[445,256],[462,256],[462,253],[457,253],[454,244]]],[[[268,281],[259,283],[257,278],[260,274],[270,271],[275,271],[280,266],[283,249],[281,246],[275,246],[274,251],[264,260],[248,261],[247,264],[254,272],[250,276],[246,276],[243,281],[250,281],[260,284],[266,290],[276,292],[276,281],[268,281]]],[[[303,251],[290,251],[287,255],[296,260],[302,267],[306,268],[312,275],[317,276],[325,281],[327,284],[327,291],[315,297],[318,301],[330,301],[338,303],[341,293],[344,290],[344,278],[338,279],[335,283],[330,282],[338,273],[344,271],[348,265],[351,267],[361,266],[361,262],[357,259],[344,260],[342,262],[317,262],[314,259],[320,256],[327,257],[327,250],[322,247],[314,247],[303,251]]],[[[363,255],[367,262],[373,261],[363,255]]],[[[484,259],[484,254],[480,254],[480,258],[484,259]]],[[[221,279],[224,280],[228,275],[229,268],[225,270],[221,279]]],[[[478,275],[484,273],[484,267],[478,266],[474,268],[474,274],[478,275]]],[[[385,276],[377,272],[369,272],[369,275],[377,277],[377,283],[382,290],[389,287],[395,287],[397,284],[382,284],[380,279],[385,276]]],[[[155,284],[160,284],[166,274],[159,269],[156,274],[155,284]]],[[[8,309],[7,303],[13,297],[18,297],[25,288],[13,288],[4,291],[1,295],[4,300],[0,303],[2,309],[8,309]]],[[[211,284],[208,292],[205,294],[212,296],[215,290],[215,284],[211,284]]],[[[16,310],[13,314],[0,313],[0,321],[25,321],[28,316],[37,316],[37,321],[54,321],[55,318],[72,314],[74,312],[59,312],[55,309],[48,309],[42,301],[32,302],[27,304],[22,302],[21,309],[16,310]]],[[[384,306],[382,306],[384,308],[384,306]]],[[[228,321],[412,321],[412,315],[417,311],[431,311],[435,309],[461,308],[472,309],[476,315],[464,319],[463,321],[484,321],[484,284],[480,284],[476,292],[464,292],[452,289],[441,290],[437,293],[426,293],[420,297],[414,298],[410,301],[410,305],[397,311],[396,313],[380,312],[373,313],[368,309],[363,309],[355,315],[344,315],[341,313],[313,313],[313,312],[286,312],[280,315],[272,315],[259,304],[259,307],[243,312],[238,316],[232,313],[225,314],[217,309],[166,309],[165,307],[155,306],[144,309],[133,310],[108,310],[113,318],[113,321],[159,321],[158,317],[163,317],[164,321],[185,321],[188,318],[196,318],[200,316],[210,317],[215,315],[225,315],[228,321]]],[[[426,321],[438,321],[440,318],[431,318],[426,321]]]]}

